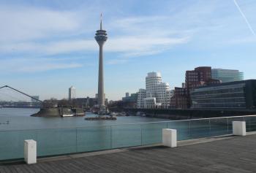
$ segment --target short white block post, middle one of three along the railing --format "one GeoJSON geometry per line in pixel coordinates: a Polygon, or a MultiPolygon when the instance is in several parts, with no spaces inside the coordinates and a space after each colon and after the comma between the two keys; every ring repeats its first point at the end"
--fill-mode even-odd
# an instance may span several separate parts
{"type": "Polygon", "coordinates": [[[166,147],[177,147],[177,131],[176,129],[162,129],[162,144],[166,147]]]}

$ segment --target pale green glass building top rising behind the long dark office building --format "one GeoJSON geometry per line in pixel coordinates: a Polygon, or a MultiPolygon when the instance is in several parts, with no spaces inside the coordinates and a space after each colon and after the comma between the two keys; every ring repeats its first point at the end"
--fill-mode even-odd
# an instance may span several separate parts
{"type": "Polygon", "coordinates": [[[236,69],[211,69],[211,77],[222,82],[234,82],[244,80],[244,72],[236,69]]]}

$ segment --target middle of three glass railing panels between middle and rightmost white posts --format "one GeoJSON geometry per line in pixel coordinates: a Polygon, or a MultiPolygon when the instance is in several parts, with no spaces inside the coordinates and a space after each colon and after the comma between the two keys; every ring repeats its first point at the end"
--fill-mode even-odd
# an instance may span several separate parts
{"type": "Polygon", "coordinates": [[[209,120],[190,120],[190,135],[192,139],[209,137],[210,136],[210,124],[209,120]]]}

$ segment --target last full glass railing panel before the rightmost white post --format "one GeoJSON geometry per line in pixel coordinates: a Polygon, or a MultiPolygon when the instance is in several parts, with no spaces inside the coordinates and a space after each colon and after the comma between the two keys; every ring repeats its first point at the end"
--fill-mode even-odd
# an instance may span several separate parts
{"type": "Polygon", "coordinates": [[[210,119],[210,124],[211,124],[210,135],[212,137],[229,134],[228,128],[227,128],[227,118],[210,119]]]}

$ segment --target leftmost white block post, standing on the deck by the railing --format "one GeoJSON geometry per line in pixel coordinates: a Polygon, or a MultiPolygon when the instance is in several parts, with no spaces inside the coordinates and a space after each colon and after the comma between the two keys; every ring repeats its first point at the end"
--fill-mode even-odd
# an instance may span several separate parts
{"type": "Polygon", "coordinates": [[[24,141],[24,159],[26,164],[37,163],[37,142],[29,139],[24,141]]]}

